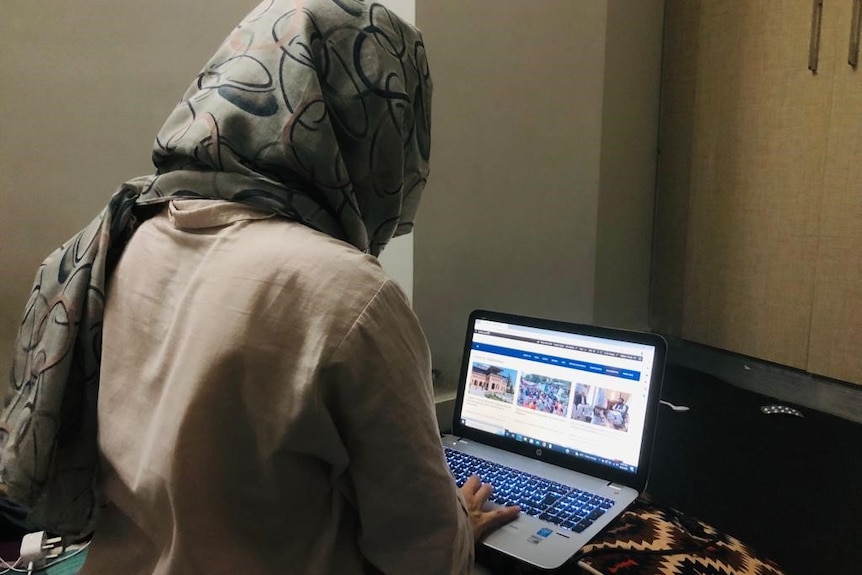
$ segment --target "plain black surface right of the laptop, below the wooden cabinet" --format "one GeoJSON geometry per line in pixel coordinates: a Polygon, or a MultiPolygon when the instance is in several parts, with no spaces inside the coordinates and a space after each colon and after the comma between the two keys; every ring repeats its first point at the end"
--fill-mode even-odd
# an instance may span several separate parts
{"type": "MultiPolygon", "coordinates": [[[[837,384],[836,384],[837,385],[837,384]]],[[[647,491],[730,533],[788,575],[862,573],[862,425],[669,365],[647,491]],[[787,404],[790,405],[790,404],[787,404]]]]}

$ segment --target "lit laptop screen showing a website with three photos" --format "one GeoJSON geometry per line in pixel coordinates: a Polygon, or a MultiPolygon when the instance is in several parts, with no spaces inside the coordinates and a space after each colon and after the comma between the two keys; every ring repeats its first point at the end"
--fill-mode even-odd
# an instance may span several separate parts
{"type": "Polygon", "coordinates": [[[654,421],[647,413],[656,346],[649,337],[629,341],[595,335],[601,328],[560,331],[518,319],[471,321],[456,423],[636,474],[654,421]]]}

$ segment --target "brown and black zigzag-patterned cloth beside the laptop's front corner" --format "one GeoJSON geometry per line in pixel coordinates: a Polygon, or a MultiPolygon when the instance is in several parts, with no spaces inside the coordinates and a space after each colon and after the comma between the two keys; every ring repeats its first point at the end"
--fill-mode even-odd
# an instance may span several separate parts
{"type": "Polygon", "coordinates": [[[672,509],[637,501],[582,551],[582,560],[614,575],[784,575],[743,542],[672,509]],[[613,552],[624,549],[633,552],[613,552]],[[690,549],[674,555],[637,553],[690,549]]]}

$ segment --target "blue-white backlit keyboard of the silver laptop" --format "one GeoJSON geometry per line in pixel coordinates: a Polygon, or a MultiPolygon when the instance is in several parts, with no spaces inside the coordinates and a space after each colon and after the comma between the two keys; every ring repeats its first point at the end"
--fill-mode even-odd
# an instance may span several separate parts
{"type": "Polygon", "coordinates": [[[527,515],[580,533],[610,509],[612,499],[530,475],[444,447],[449,470],[458,487],[471,475],[494,486],[490,500],[499,505],[520,505],[527,515]]]}

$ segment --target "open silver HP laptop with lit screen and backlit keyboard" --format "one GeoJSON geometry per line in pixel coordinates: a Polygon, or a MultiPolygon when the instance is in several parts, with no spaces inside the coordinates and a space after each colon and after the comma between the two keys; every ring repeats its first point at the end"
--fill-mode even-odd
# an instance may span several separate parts
{"type": "Polygon", "coordinates": [[[556,569],[640,495],[649,476],[667,344],[656,334],[477,310],[452,433],[458,485],[521,505],[483,544],[556,569]]]}

